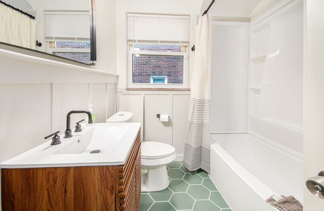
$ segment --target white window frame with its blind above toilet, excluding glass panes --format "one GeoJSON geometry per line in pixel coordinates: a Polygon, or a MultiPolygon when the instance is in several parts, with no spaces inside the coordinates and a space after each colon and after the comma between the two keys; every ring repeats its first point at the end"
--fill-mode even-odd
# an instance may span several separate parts
{"type": "Polygon", "coordinates": [[[190,16],[127,13],[127,90],[190,90],[190,16]],[[152,31],[154,33],[150,33],[152,31]],[[185,52],[137,51],[134,45],[185,46],[185,52]],[[133,55],[183,56],[182,83],[133,83],[133,55]]]}

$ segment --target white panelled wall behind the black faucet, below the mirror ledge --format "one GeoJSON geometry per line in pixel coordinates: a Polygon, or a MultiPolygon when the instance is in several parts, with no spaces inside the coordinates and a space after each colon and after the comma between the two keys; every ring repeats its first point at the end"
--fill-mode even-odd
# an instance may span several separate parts
{"type": "MultiPolygon", "coordinates": [[[[51,133],[64,133],[66,114],[71,110],[88,109],[90,95],[96,95],[91,101],[97,105],[96,121],[104,122],[110,84],[90,84],[92,91],[89,83],[2,83],[0,115],[4,120],[0,122],[3,132],[0,134],[0,162],[48,141],[44,137],[51,133]]],[[[114,96],[108,97],[114,101],[114,96]]],[[[85,115],[72,115],[72,130],[74,122],[81,119],[85,119],[85,115]]]]}

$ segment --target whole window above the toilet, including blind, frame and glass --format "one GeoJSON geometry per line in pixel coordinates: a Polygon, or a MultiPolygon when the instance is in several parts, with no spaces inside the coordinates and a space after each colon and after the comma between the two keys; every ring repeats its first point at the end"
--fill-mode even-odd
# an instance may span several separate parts
{"type": "Polygon", "coordinates": [[[128,14],[128,88],[188,88],[189,17],[128,14]]]}

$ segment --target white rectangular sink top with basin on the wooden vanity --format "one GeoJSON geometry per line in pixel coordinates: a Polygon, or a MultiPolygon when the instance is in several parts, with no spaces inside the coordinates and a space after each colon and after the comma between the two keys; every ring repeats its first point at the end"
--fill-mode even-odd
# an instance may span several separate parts
{"type": "Polygon", "coordinates": [[[141,123],[96,123],[72,132],[61,144],[51,140],[0,163],[1,168],[60,167],[124,164],[141,123]]]}

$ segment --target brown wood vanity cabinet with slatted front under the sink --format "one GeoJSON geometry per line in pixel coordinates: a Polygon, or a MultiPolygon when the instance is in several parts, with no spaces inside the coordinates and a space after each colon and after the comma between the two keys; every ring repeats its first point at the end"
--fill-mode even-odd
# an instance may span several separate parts
{"type": "Polygon", "coordinates": [[[140,132],[123,165],[2,169],[2,210],[136,211],[140,132]]]}

